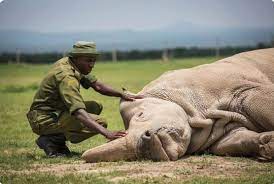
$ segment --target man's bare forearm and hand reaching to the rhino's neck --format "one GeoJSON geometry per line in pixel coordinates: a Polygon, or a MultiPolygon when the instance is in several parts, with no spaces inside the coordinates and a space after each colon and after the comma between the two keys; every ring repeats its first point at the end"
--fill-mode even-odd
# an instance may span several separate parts
{"type": "Polygon", "coordinates": [[[119,92],[119,91],[113,89],[112,87],[99,82],[98,80],[93,83],[90,83],[90,87],[92,87],[95,91],[97,91],[98,93],[100,93],[102,95],[120,97],[124,100],[132,101],[135,99],[143,98],[143,96],[141,96],[141,95],[132,95],[132,94],[124,93],[124,92],[119,92]]]}

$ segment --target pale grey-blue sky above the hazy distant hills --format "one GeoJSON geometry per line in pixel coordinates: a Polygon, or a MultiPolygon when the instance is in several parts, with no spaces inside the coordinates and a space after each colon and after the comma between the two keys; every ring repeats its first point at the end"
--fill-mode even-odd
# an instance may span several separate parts
{"type": "Polygon", "coordinates": [[[0,30],[157,30],[185,22],[208,27],[273,27],[272,0],[0,0],[0,30]]]}

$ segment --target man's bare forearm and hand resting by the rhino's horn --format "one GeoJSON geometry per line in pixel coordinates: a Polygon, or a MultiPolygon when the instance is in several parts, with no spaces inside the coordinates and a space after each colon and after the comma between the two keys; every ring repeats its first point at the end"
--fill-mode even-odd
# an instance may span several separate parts
{"type": "Polygon", "coordinates": [[[109,140],[114,140],[124,137],[127,133],[125,131],[109,131],[103,126],[94,121],[84,109],[76,110],[73,115],[81,121],[87,128],[97,131],[109,140]]]}

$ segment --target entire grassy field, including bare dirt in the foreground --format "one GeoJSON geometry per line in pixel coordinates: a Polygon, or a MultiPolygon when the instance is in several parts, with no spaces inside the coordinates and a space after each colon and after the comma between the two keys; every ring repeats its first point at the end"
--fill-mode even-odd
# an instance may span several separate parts
{"type": "MultiPolygon", "coordinates": [[[[138,92],[171,69],[211,63],[215,58],[97,63],[94,74],[116,89],[138,92]]],[[[274,183],[274,164],[248,158],[191,156],[176,162],[151,161],[86,164],[83,151],[106,140],[95,136],[69,144],[70,158],[45,157],[34,144],[26,112],[50,65],[0,65],[0,183],[274,183]]],[[[104,105],[102,116],[110,129],[122,129],[119,99],[81,91],[85,100],[104,105]]]]}

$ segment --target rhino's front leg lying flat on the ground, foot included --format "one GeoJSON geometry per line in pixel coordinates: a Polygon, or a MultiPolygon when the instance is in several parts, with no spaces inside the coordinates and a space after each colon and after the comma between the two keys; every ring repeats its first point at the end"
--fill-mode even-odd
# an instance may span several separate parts
{"type": "Polygon", "coordinates": [[[273,160],[274,131],[257,133],[241,127],[230,131],[213,144],[209,151],[216,155],[253,156],[259,160],[273,160]]]}

